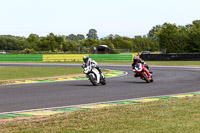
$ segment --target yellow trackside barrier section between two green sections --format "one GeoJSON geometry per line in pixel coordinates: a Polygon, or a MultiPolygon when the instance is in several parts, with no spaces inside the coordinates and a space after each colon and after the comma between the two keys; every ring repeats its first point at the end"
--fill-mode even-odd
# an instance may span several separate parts
{"type": "Polygon", "coordinates": [[[87,54],[43,55],[43,62],[83,61],[84,55],[87,55],[87,54]]]}

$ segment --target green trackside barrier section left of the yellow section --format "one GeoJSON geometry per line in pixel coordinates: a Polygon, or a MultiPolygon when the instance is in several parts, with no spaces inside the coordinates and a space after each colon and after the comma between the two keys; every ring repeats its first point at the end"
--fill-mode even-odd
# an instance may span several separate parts
{"type": "Polygon", "coordinates": [[[42,55],[0,55],[0,62],[42,62],[42,55]]]}

